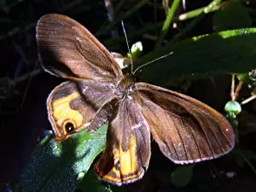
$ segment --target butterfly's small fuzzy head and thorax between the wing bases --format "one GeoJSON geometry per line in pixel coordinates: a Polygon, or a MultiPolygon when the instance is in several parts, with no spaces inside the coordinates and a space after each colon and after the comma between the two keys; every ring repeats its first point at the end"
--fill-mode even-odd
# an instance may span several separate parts
{"type": "Polygon", "coordinates": [[[116,86],[116,95],[119,98],[128,96],[133,90],[135,80],[132,74],[127,74],[120,79],[119,84],[116,86]]]}

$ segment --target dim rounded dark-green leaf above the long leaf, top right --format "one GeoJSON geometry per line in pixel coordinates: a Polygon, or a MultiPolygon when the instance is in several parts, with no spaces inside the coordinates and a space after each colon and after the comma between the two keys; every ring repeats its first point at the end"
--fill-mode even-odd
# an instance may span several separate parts
{"type": "Polygon", "coordinates": [[[247,9],[240,2],[229,1],[215,12],[213,28],[216,32],[252,26],[247,9]]]}

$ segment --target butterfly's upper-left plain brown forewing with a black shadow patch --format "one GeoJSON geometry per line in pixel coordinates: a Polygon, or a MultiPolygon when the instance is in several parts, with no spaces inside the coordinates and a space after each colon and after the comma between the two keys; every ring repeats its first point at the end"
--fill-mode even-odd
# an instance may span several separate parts
{"type": "Polygon", "coordinates": [[[44,69],[56,76],[111,82],[122,75],[108,49],[65,15],[49,14],[38,20],[37,43],[44,69]]]}

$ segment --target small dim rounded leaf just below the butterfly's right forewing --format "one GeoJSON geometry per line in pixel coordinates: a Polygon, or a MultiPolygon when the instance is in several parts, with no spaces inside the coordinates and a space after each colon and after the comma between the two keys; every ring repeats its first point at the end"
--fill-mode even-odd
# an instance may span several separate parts
{"type": "Polygon", "coordinates": [[[172,172],[171,181],[177,187],[185,187],[193,174],[195,164],[179,166],[172,172]]]}

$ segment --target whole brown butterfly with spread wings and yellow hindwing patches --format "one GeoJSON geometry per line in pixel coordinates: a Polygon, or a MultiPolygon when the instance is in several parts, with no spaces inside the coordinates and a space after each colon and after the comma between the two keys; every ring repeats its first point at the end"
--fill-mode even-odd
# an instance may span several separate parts
{"type": "Polygon", "coordinates": [[[227,154],[235,135],[224,116],[189,96],[123,75],[113,57],[84,26],[64,15],[38,20],[44,70],[68,79],[49,94],[47,108],[56,140],[108,123],[106,148],[95,170],[121,185],[142,178],[150,160],[150,132],[177,164],[227,154]]]}

